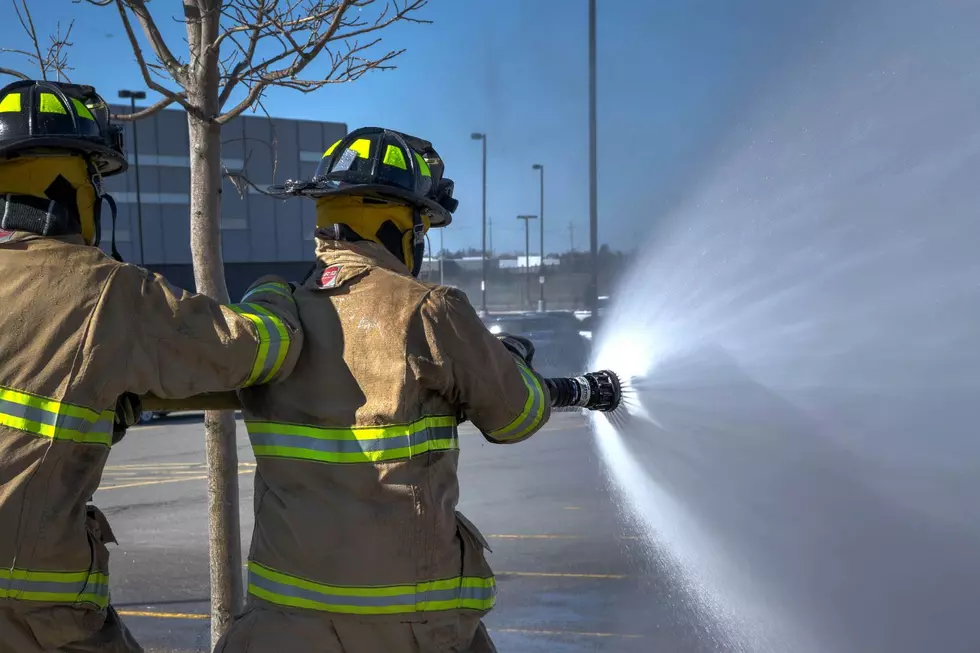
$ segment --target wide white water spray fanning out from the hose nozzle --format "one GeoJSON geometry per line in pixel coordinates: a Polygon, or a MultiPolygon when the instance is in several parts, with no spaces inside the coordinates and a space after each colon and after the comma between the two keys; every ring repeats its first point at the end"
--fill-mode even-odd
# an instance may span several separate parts
{"type": "Polygon", "coordinates": [[[706,648],[980,650],[977,25],[855,3],[616,291],[597,446],[706,648]]]}

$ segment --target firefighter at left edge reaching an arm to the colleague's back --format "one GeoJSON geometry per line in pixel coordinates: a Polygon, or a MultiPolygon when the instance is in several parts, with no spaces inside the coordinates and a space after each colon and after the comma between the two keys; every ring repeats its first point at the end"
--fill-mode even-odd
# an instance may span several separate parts
{"type": "Polygon", "coordinates": [[[0,89],[2,653],[141,650],[109,603],[115,538],[88,504],[109,448],[140,395],[278,379],[302,345],[283,281],[222,306],[98,249],[121,135],[91,87],[0,89]]]}

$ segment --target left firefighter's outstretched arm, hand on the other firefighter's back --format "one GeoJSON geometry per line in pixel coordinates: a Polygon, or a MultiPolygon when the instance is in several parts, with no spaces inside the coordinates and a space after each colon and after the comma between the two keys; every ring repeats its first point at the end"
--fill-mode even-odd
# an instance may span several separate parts
{"type": "MultiPolygon", "coordinates": [[[[127,334],[92,335],[93,340],[125,337],[131,345],[114,380],[120,394],[228,399],[213,393],[284,378],[303,345],[291,289],[278,277],[259,279],[241,302],[225,306],[176,288],[160,275],[121,266],[109,279],[98,311],[110,319],[97,323],[133,324],[127,334]]],[[[194,408],[194,401],[168,408],[194,408]]]]}

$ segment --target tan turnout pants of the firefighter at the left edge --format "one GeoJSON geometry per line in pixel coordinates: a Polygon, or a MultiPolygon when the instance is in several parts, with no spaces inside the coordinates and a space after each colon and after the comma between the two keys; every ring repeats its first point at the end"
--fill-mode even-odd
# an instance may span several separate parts
{"type": "Polygon", "coordinates": [[[0,607],[0,653],[143,653],[112,606],[0,607]]]}

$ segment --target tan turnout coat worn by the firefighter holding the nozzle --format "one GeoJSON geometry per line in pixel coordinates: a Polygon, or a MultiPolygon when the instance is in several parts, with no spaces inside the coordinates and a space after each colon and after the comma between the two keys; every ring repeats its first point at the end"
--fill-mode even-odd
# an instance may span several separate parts
{"type": "Polygon", "coordinates": [[[250,603],[376,623],[478,617],[496,588],[456,511],[456,425],[525,439],[549,417],[546,387],[461,292],[375,243],[317,242],[294,293],[301,359],[240,392],[257,461],[250,603]]]}

